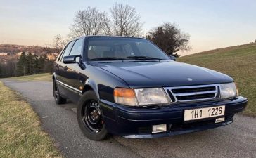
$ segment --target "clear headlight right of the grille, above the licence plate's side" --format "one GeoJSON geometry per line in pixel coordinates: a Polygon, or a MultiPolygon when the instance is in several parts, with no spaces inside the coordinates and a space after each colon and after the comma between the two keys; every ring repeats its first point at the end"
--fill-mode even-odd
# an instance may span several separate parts
{"type": "Polygon", "coordinates": [[[238,96],[236,84],[234,82],[229,84],[220,84],[220,96],[222,99],[238,96]]]}

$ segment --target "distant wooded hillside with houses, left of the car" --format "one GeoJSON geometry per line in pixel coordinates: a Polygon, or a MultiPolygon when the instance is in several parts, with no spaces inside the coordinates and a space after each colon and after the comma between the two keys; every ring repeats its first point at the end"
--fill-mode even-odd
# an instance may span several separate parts
{"type": "Polygon", "coordinates": [[[51,72],[58,52],[42,46],[0,44],[0,78],[51,72]]]}

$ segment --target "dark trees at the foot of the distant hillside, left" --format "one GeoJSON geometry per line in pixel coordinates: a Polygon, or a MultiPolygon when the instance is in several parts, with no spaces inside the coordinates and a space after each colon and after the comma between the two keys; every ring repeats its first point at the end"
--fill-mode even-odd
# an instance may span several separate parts
{"type": "Polygon", "coordinates": [[[0,77],[16,77],[30,74],[53,72],[53,61],[46,55],[21,53],[20,58],[15,56],[0,64],[0,77]]]}

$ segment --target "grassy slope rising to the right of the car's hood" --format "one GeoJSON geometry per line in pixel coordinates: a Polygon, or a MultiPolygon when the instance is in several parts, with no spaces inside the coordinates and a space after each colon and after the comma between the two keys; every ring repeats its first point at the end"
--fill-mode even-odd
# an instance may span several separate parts
{"type": "Polygon", "coordinates": [[[219,48],[178,58],[201,67],[207,67],[235,79],[241,96],[248,98],[243,114],[256,116],[256,44],[219,48]]]}

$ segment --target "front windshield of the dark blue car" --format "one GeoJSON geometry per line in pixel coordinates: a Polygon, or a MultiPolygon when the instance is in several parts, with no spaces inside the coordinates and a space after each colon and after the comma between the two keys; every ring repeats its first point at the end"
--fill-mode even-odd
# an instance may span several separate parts
{"type": "Polygon", "coordinates": [[[89,60],[169,60],[167,55],[146,39],[89,37],[89,60]]]}

